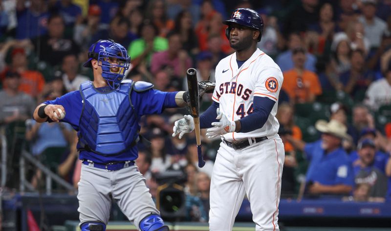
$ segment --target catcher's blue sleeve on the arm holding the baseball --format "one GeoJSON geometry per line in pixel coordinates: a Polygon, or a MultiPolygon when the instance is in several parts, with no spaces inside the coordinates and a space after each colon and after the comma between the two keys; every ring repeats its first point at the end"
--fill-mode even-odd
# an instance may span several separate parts
{"type": "MultiPolygon", "coordinates": [[[[68,123],[78,130],[83,109],[82,96],[79,91],[71,91],[55,100],[45,101],[43,104],[62,105],[65,109],[65,118],[61,122],[68,123]]],[[[51,121],[49,120],[49,122],[51,121]]]]}

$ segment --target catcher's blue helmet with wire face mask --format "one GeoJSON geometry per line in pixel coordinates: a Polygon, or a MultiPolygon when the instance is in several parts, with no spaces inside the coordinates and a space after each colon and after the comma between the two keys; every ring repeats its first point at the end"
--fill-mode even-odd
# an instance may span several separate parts
{"type": "Polygon", "coordinates": [[[99,40],[89,47],[88,61],[83,64],[85,67],[91,67],[91,60],[97,60],[102,66],[102,77],[113,89],[118,89],[119,84],[124,78],[125,71],[129,68],[130,57],[128,51],[119,43],[111,40],[99,40]],[[110,64],[109,59],[116,58],[117,64],[110,64]],[[118,72],[112,72],[110,68],[118,67],[118,72]]]}

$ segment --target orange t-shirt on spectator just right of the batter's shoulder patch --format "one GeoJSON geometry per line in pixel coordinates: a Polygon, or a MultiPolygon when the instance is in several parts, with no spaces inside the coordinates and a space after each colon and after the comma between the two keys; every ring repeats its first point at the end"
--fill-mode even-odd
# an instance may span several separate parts
{"type": "Polygon", "coordinates": [[[296,69],[285,71],[283,76],[284,84],[282,84],[282,89],[291,99],[300,99],[306,102],[309,99],[309,93],[314,95],[322,94],[322,86],[318,76],[312,71],[304,70],[301,79],[296,69]]]}

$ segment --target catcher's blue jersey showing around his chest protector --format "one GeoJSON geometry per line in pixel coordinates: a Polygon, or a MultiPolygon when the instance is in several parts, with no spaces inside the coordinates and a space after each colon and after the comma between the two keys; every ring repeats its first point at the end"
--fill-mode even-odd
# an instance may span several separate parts
{"type": "MultiPolygon", "coordinates": [[[[109,86],[97,88],[104,91],[109,86]]],[[[173,96],[173,92],[162,92],[159,90],[150,89],[144,92],[131,91],[131,103],[134,110],[137,112],[137,118],[140,119],[143,115],[160,114],[167,105],[166,95],[173,96]]],[[[79,133],[79,120],[82,115],[83,103],[80,91],[71,91],[55,100],[46,101],[44,104],[63,105],[65,109],[65,118],[62,122],[70,124],[79,133]]],[[[78,148],[79,148],[78,144],[78,148]]],[[[118,155],[99,155],[94,152],[82,150],[79,159],[87,159],[96,163],[109,163],[113,161],[129,161],[135,160],[138,156],[136,146],[118,155]]]]}

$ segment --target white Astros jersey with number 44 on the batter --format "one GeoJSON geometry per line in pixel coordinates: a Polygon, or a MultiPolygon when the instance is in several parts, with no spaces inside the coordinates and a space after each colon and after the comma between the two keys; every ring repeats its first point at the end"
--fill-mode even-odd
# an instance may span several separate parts
{"type": "Polygon", "coordinates": [[[222,59],[216,67],[216,88],[212,99],[228,120],[239,120],[253,112],[254,96],[267,97],[276,102],[264,124],[259,129],[231,132],[224,135],[227,141],[252,137],[274,137],[279,129],[276,119],[278,96],[283,82],[280,67],[260,49],[238,68],[236,52],[222,59]]]}

